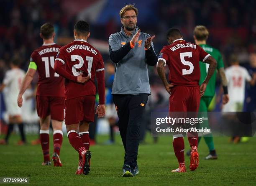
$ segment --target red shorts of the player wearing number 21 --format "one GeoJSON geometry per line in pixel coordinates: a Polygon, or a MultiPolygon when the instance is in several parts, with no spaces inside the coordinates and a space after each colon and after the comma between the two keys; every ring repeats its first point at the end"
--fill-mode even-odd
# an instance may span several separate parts
{"type": "Polygon", "coordinates": [[[65,101],[64,117],[66,125],[94,121],[95,96],[82,96],[65,101]]]}

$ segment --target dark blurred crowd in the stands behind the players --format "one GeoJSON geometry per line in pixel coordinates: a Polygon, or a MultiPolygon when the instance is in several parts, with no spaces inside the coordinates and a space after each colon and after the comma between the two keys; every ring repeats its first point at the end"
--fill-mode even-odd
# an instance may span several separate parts
{"type": "MultiPolygon", "coordinates": [[[[20,61],[21,69],[27,70],[32,51],[42,44],[39,29],[43,23],[54,24],[56,43],[64,45],[67,41],[72,41],[74,23],[78,17],[68,14],[63,2],[66,1],[1,0],[0,83],[3,81],[5,71],[10,68],[9,64],[13,58],[20,61]]],[[[100,3],[100,0],[92,0],[92,2],[100,3]]],[[[110,1],[106,2],[107,7],[110,1]]],[[[136,1],[134,3],[136,6],[136,1]]],[[[116,11],[119,16],[123,5],[119,9],[105,11],[107,13],[116,11]]],[[[251,66],[250,60],[251,64],[256,64],[256,2],[254,0],[149,0],[143,11],[139,7],[138,10],[138,26],[141,31],[156,35],[154,39],[156,54],[159,54],[162,46],[167,45],[165,34],[168,28],[179,28],[185,40],[194,42],[195,25],[205,25],[210,31],[207,44],[221,51],[226,67],[229,66],[228,59],[231,54],[238,56],[238,61],[242,66],[251,66]],[[140,17],[143,17],[143,20],[140,17]]],[[[83,19],[87,20],[86,17],[83,19]]],[[[91,25],[90,39],[105,42],[108,42],[110,34],[120,31],[121,27],[120,20],[113,16],[108,16],[104,24],[97,20],[88,22],[91,25]]],[[[111,66],[112,62],[107,52],[103,51],[102,56],[107,68],[105,71],[106,79],[108,79],[107,96],[110,96],[113,66],[111,66]]],[[[161,85],[156,68],[148,68],[152,92],[147,106],[148,112],[158,107],[167,108],[168,101],[166,100],[169,95],[161,85]]],[[[33,81],[32,89],[36,82],[37,79],[33,81]]],[[[1,111],[4,110],[3,107],[3,102],[1,102],[1,111]]],[[[108,119],[108,121],[112,123],[111,126],[115,125],[113,120],[108,119]]]]}

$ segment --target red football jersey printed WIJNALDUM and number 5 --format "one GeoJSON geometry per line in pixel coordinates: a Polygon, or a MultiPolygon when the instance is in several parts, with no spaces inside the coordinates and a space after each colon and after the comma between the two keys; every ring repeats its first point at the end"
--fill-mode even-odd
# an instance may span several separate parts
{"type": "Polygon", "coordinates": [[[199,45],[177,39],[162,48],[158,59],[168,65],[171,83],[195,87],[199,86],[199,61],[205,62],[209,56],[199,45]]]}

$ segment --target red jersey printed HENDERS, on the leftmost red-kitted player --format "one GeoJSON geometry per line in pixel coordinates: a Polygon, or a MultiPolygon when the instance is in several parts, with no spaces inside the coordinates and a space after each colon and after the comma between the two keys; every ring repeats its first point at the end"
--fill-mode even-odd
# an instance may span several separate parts
{"type": "Polygon", "coordinates": [[[64,97],[64,78],[54,72],[54,59],[61,46],[42,45],[33,51],[30,61],[35,62],[39,75],[36,95],[64,97]]]}

